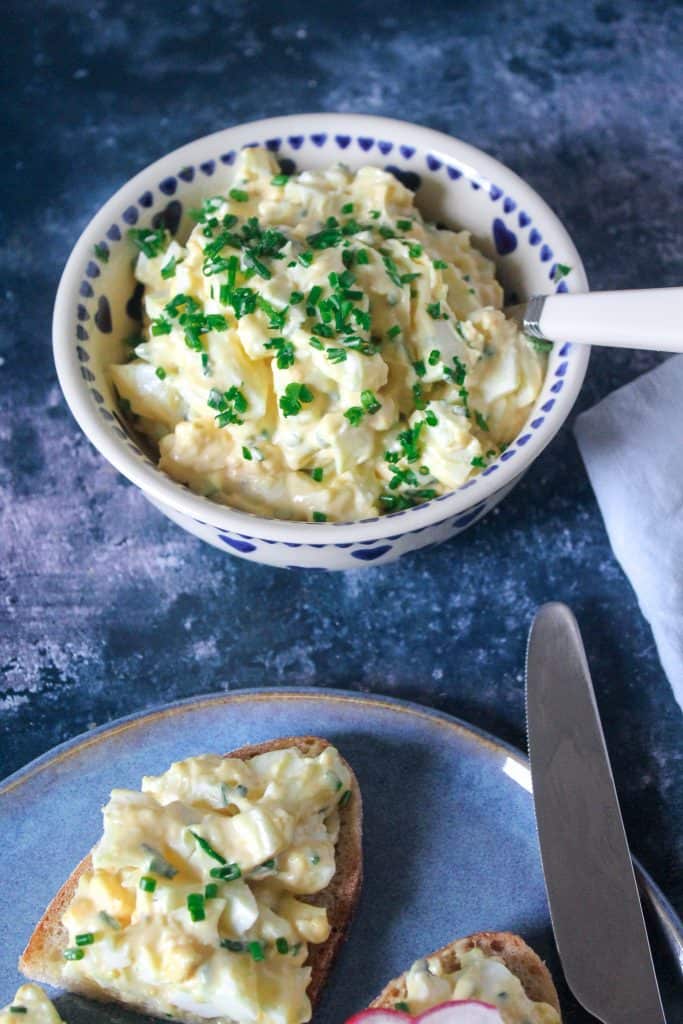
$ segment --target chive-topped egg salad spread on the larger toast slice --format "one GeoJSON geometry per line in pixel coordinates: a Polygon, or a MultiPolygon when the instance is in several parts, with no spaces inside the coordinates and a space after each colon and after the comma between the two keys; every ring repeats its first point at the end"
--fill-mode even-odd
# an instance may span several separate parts
{"type": "Polygon", "coordinates": [[[308,1021],[308,944],[330,925],[305,897],[335,873],[350,785],[328,746],[188,758],[115,790],[62,918],[67,987],[214,1024],[308,1021]]]}

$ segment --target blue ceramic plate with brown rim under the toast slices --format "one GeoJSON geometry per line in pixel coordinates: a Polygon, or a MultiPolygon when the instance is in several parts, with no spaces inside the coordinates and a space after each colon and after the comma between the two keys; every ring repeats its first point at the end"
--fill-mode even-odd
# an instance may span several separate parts
{"type": "MultiPolygon", "coordinates": [[[[364,795],[366,880],[315,1024],[342,1024],[416,957],[482,929],[518,932],[549,962],[565,1020],[592,1020],[561,982],[524,758],[457,719],[333,690],[244,690],[123,719],[45,755],[0,786],[0,1006],[45,904],[96,841],[114,785],[172,761],[316,733],[353,765],[364,795]]],[[[670,1020],[683,1019],[683,929],[641,872],[670,1020]],[[677,1013],[678,1011],[678,1013],[677,1013]]],[[[70,1024],[139,1021],[73,996],[70,1024]]]]}

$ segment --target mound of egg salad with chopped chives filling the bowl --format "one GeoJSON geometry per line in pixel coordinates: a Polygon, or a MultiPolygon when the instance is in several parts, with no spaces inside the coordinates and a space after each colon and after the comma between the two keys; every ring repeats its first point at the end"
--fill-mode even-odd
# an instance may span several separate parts
{"type": "MultiPolygon", "coordinates": [[[[546,368],[468,231],[377,167],[246,148],[184,245],[130,231],[144,325],[111,374],[159,465],[259,515],[355,520],[453,490],[518,433],[546,368]]],[[[543,344],[543,343],[541,343],[543,344]]]]}

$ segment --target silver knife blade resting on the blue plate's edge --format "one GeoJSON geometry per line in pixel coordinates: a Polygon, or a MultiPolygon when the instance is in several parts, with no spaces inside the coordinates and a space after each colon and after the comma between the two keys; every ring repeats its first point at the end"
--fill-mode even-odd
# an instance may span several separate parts
{"type": "Polygon", "coordinates": [[[666,1024],[586,651],[564,604],[543,605],[531,626],[526,730],[567,984],[604,1024],[666,1024]]]}

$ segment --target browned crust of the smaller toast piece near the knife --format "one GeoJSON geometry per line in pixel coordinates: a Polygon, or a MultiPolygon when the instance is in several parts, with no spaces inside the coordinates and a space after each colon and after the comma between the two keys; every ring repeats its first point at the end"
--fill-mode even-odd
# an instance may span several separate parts
{"type": "MultiPolygon", "coordinates": [[[[450,942],[447,946],[430,953],[426,959],[438,961],[443,972],[452,974],[460,967],[461,955],[475,946],[485,956],[496,956],[502,961],[508,971],[522,983],[529,999],[533,1002],[547,1002],[559,1014],[560,1000],[550,971],[530,946],[511,932],[477,932],[450,942]]],[[[370,1006],[373,1009],[390,1010],[394,1004],[404,1002],[405,994],[405,974],[401,974],[390,981],[370,1006]]]]}

